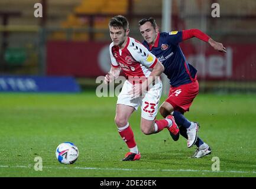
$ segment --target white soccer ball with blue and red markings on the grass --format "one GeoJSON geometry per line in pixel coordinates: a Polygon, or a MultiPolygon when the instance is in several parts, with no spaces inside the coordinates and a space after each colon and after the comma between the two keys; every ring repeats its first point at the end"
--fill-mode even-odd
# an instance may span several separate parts
{"type": "Polygon", "coordinates": [[[63,142],[56,149],[56,158],[61,164],[73,164],[78,155],[78,148],[72,142],[63,142]]]}

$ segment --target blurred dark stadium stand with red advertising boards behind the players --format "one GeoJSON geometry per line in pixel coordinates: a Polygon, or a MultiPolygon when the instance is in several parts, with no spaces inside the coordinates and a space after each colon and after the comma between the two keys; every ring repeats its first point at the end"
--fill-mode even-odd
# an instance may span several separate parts
{"type": "MultiPolygon", "coordinates": [[[[161,28],[162,7],[155,0],[1,0],[0,89],[10,85],[7,76],[71,76],[82,89],[95,87],[110,69],[109,19],[125,15],[130,36],[142,41],[138,21],[154,17],[161,28]],[[37,2],[42,18],[34,17],[37,2]]],[[[172,0],[170,21],[172,31],[198,28],[227,49],[196,38],[180,44],[202,92],[256,93],[256,1],[172,0]],[[215,2],[219,18],[211,16],[215,2]]]]}

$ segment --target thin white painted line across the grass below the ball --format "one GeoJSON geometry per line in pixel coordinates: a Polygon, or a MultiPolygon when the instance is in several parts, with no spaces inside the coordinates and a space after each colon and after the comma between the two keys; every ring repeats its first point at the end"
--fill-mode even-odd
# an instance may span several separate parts
{"type": "MultiPolygon", "coordinates": [[[[67,165],[69,166],[69,165],[67,165]]],[[[31,165],[0,165],[0,168],[34,168],[31,165]]],[[[43,169],[77,169],[77,170],[112,170],[112,171],[164,171],[164,172],[214,172],[214,173],[251,173],[256,174],[256,171],[210,171],[210,170],[138,170],[138,169],[130,169],[130,168],[100,168],[100,167],[48,167],[43,166],[43,169]]]]}

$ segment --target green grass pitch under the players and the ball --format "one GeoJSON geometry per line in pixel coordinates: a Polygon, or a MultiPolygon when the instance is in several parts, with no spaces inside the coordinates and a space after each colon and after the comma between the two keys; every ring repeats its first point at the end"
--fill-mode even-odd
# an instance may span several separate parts
{"type": "Polygon", "coordinates": [[[200,123],[199,136],[212,148],[200,159],[190,158],[195,147],[187,148],[182,136],[172,141],[167,129],[144,135],[140,111],[135,112],[129,123],[141,160],[122,162],[128,149],[114,123],[116,97],[0,93],[0,177],[256,177],[255,99],[196,97],[185,115],[200,123]],[[79,148],[73,165],[55,157],[65,141],[79,148]],[[43,171],[34,170],[35,157],[42,158],[43,171]],[[219,158],[220,171],[212,171],[213,157],[219,158]]]}

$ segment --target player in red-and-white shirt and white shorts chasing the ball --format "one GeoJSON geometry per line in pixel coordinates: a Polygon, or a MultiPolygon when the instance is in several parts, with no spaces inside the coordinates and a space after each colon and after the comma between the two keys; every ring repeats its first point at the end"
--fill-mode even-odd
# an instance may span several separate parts
{"type": "Polygon", "coordinates": [[[141,154],[128,119],[138,106],[141,105],[141,131],[145,135],[167,128],[171,135],[179,137],[179,127],[171,115],[166,119],[155,120],[162,91],[159,76],[164,71],[163,65],[141,43],[128,37],[127,18],[122,15],[111,18],[109,31],[113,41],[109,45],[112,66],[105,76],[105,83],[113,82],[121,70],[127,76],[118,95],[115,123],[121,138],[129,148],[122,160],[135,161],[141,158],[141,154]]]}

